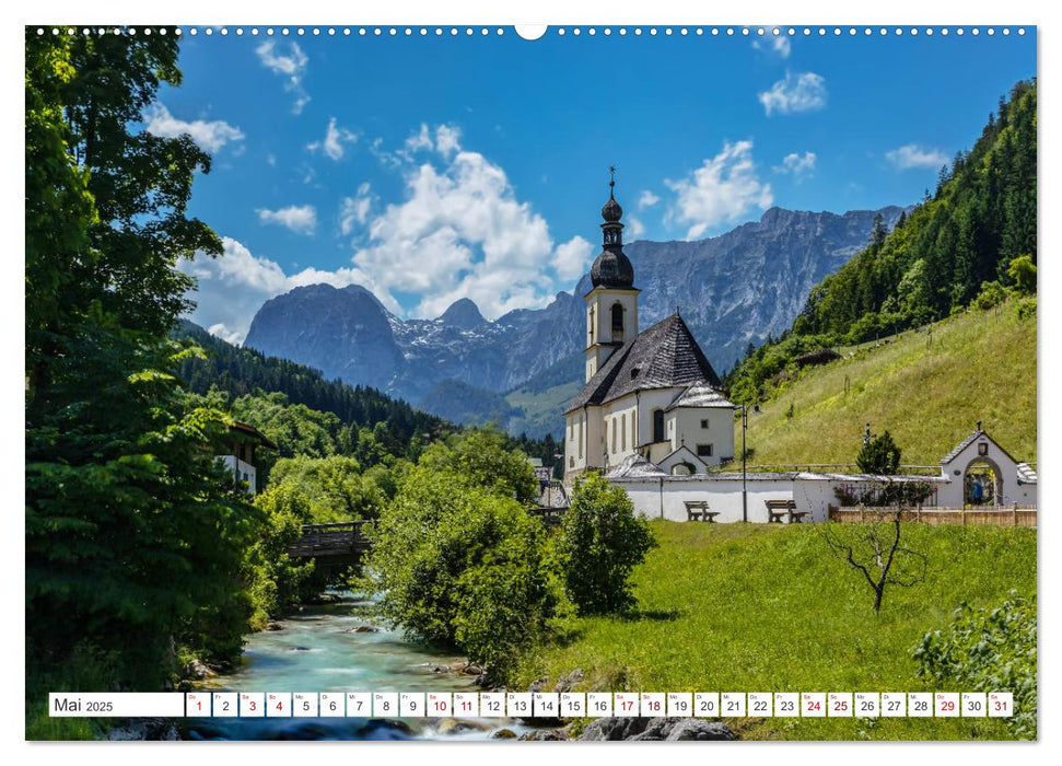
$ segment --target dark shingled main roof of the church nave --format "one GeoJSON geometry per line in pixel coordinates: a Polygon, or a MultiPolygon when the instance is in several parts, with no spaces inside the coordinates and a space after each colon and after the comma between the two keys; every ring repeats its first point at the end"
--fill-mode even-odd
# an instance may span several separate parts
{"type": "Polygon", "coordinates": [[[605,404],[635,391],[691,384],[721,385],[693,334],[676,313],[617,349],[565,413],[605,404]]]}

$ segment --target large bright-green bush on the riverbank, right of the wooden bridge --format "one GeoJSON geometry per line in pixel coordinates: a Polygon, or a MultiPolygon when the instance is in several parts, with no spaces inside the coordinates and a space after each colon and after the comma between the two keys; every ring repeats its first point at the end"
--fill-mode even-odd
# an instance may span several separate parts
{"type": "Polygon", "coordinates": [[[378,612],[502,675],[552,611],[545,530],[511,497],[422,464],[371,532],[378,612]]]}

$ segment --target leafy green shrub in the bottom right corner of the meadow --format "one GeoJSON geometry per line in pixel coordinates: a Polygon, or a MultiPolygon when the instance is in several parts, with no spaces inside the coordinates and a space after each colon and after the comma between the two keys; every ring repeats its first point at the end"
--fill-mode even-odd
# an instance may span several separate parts
{"type": "Polygon", "coordinates": [[[1036,739],[1036,595],[1011,591],[995,608],[962,602],[945,630],[922,637],[912,657],[919,677],[961,684],[965,690],[1012,692],[1006,724],[1020,739],[1036,739]]]}

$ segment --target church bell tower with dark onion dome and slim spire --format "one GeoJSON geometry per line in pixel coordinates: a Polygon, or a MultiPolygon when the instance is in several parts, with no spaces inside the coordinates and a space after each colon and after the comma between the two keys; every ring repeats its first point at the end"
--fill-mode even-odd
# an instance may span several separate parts
{"type": "Polygon", "coordinates": [[[616,201],[616,167],[609,167],[608,201],[602,208],[603,248],[590,269],[586,293],[586,380],[616,349],[638,335],[634,267],[623,254],[623,208],[616,201]]]}

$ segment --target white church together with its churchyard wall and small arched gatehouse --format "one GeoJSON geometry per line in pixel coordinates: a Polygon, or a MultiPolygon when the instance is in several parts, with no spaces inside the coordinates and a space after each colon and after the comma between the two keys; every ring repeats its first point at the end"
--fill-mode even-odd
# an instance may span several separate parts
{"type": "MultiPolygon", "coordinates": [[[[719,375],[676,312],[638,332],[634,269],[623,254],[623,211],[602,208],[604,248],[586,293],[586,382],[565,417],[564,485],[600,472],[638,513],[673,521],[821,522],[843,499],[884,483],[919,483],[936,509],[1035,509],[1037,474],[981,423],[932,475],[813,472],[724,473],[733,460],[734,415],[719,375]]],[[[965,523],[965,522],[964,522],[965,523]]],[[[1035,525],[1035,514],[1034,514],[1035,525]]]]}

